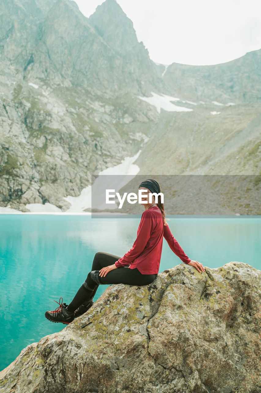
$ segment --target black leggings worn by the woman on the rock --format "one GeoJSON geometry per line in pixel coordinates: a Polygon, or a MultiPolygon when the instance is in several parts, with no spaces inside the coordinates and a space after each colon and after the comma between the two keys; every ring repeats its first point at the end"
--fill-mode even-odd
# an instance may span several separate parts
{"type": "Polygon", "coordinates": [[[88,273],[86,280],[78,290],[74,299],[68,306],[69,311],[75,311],[88,299],[93,299],[100,284],[129,284],[129,285],[149,285],[158,274],[141,274],[140,271],[130,269],[128,266],[110,270],[105,276],[100,276],[100,270],[106,266],[114,264],[120,257],[107,252],[96,252],[92,262],[92,270],[88,273]]]}

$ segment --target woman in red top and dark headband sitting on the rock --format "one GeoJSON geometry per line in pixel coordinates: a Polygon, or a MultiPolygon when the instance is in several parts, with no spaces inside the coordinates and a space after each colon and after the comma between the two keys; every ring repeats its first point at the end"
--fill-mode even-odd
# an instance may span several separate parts
{"type": "Polygon", "coordinates": [[[100,284],[122,283],[138,286],[151,284],[159,272],[163,236],[172,251],[183,262],[195,266],[199,272],[199,268],[205,272],[202,263],[188,258],[174,239],[165,219],[161,196],[158,195],[158,204],[155,204],[154,195],[152,202],[149,203],[150,193],[161,192],[158,182],[147,179],[141,182],[139,189],[147,189],[147,193],[143,192],[145,196],[141,203],[145,211],[141,215],[137,239],[132,248],[122,258],[106,252],[97,252],[93,259],[92,271],[87,275],[71,303],[67,305],[60,301],[56,302],[59,304],[56,310],[45,312],[45,318],[49,321],[68,324],[82,315],[92,306],[92,299],[100,284]]]}

